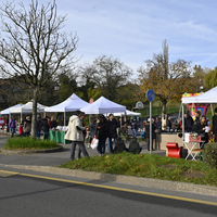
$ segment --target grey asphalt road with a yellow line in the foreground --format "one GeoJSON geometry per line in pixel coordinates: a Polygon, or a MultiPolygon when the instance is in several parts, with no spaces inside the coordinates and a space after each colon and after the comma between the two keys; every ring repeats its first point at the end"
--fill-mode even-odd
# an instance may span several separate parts
{"type": "Polygon", "coordinates": [[[0,168],[0,189],[1,217],[217,216],[215,196],[17,169],[0,168]]]}

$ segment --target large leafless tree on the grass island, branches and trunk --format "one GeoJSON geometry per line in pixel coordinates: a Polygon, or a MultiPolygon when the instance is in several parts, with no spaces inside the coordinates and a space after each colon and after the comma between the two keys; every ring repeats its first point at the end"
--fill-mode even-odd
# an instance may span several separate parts
{"type": "Polygon", "coordinates": [[[33,90],[31,132],[35,137],[40,90],[74,63],[78,37],[62,31],[66,16],[58,16],[55,0],[47,5],[31,0],[28,9],[24,3],[7,2],[0,10],[0,68],[4,77],[16,73],[33,90]]]}

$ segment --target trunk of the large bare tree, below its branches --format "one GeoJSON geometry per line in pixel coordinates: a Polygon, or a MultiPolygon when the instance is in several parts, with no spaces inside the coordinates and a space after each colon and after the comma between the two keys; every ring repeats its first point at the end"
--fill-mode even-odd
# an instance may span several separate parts
{"type": "Polygon", "coordinates": [[[34,90],[34,99],[33,99],[33,115],[31,115],[33,138],[36,138],[36,132],[37,132],[37,104],[38,104],[38,88],[34,90]]]}

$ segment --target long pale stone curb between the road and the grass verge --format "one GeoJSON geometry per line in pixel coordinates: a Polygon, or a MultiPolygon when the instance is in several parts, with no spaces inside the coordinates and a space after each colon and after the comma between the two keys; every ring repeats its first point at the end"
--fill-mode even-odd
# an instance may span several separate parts
{"type": "Polygon", "coordinates": [[[101,174],[95,171],[82,171],[78,169],[58,168],[51,166],[25,166],[25,165],[2,165],[2,164],[0,164],[0,166],[77,177],[77,178],[85,178],[85,179],[92,179],[92,180],[115,181],[118,183],[126,183],[132,186],[217,196],[217,187],[210,187],[210,186],[184,183],[178,181],[166,181],[159,179],[148,179],[148,178],[123,176],[123,175],[101,174]]]}

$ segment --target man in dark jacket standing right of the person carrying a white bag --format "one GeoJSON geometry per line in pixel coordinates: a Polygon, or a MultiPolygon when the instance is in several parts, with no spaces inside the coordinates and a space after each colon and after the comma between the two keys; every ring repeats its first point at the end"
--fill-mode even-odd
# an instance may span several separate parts
{"type": "Polygon", "coordinates": [[[113,140],[116,142],[117,141],[117,128],[119,127],[118,122],[114,118],[113,114],[110,114],[108,120],[108,144],[107,144],[107,151],[111,153],[114,152],[113,150],[113,140]]]}

